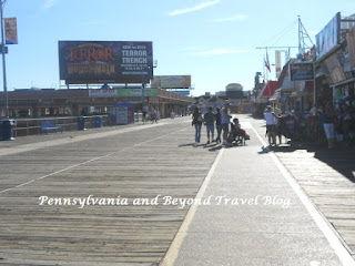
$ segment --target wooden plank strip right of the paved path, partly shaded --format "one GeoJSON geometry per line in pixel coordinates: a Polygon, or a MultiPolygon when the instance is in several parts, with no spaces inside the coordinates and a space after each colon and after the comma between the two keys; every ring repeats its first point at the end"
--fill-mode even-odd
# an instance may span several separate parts
{"type": "MultiPolygon", "coordinates": [[[[264,136],[264,121],[253,123],[264,136]]],[[[274,152],[355,259],[355,151],[282,146],[274,152]]]]}

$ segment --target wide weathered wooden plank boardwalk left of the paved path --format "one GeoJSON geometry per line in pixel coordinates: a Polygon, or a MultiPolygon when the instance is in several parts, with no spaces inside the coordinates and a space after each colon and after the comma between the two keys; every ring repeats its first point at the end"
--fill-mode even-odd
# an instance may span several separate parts
{"type": "Polygon", "coordinates": [[[219,152],[193,149],[184,121],[63,133],[21,153],[1,143],[13,146],[0,156],[0,265],[158,265],[187,211],[163,197],[193,198],[219,152]],[[101,205],[39,205],[40,196],[101,205]],[[133,204],[156,196],[158,205],[133,204]],[[103,202],[119,197],[128,205],[103,202]]]}

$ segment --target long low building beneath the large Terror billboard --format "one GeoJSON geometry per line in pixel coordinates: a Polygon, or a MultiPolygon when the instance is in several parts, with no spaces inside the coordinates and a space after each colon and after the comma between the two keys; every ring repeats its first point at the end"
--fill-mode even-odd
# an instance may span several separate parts
{"type": "MultiPolygon", "coordinates": [[[[10,117],[42,117],[81,114],[111,114],[116,103],[132,102],[135,110],[155,109],[161,117],[171,112],[184,114],[193,99],[161,89],[28,89],[8,92],[10,117]]],[[[4,95],[0,93],[0,113],[4,115],[4,95]]]]}

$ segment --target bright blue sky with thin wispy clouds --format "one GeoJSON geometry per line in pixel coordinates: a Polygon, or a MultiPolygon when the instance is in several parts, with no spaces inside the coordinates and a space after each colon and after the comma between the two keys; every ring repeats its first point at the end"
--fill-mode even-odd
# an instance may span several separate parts
{"type": "Polygon", "coordinates": [[[264,72],[265,50],[257,47],[297,47],[297,16],[315,43],[336,12],[355,13],[355,1],[7,0],[3,17],[17,17],[19,39],[6,57],[8,90],[59,89],[58,41],[97,40],[152,41],[154,74],[191,75],[194,96],[229,83],[247,91],[264,72]]]}

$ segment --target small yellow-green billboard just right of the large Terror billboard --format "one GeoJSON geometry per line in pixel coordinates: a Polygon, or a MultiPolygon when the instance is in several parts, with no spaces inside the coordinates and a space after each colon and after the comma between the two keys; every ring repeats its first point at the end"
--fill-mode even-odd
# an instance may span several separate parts
{"type": "Polygon", "coordinates": [[[191,75],[154,75],[151,86],[161,89],[191,88],[191,75]]]}

